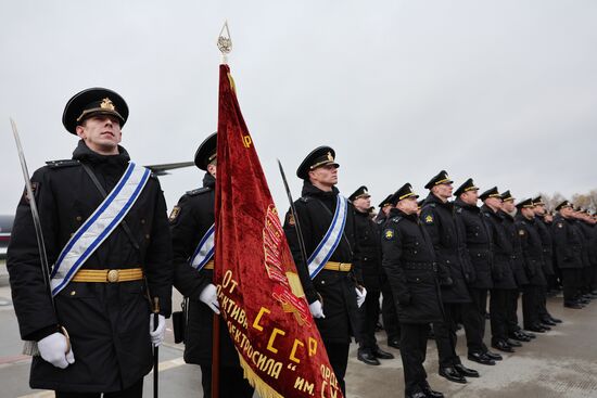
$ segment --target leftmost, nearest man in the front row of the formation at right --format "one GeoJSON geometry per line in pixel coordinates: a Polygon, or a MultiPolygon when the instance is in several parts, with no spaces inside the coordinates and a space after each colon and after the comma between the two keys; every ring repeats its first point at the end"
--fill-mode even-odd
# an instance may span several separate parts
{"type": "Polygon", "coordinates": [[[443,397],[431,389],[423,368],[429,324],[442,321],[442,299],[435,253],[417,217],[417,197],[409,183],[392,197],[396,207],[390,211],[382,230],[383,267],[402,323],[405,396],[443,397]]]}

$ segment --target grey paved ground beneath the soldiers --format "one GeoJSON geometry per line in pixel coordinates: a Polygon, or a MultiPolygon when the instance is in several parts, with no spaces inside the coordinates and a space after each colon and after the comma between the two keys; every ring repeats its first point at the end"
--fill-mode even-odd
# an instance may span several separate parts
{"type": "MultiPolygon", "coordinates": [[[[1,267],[1,265],[0,265],[1,267]]],[[[549,310],[564,323],[539,335],[505,355],[495,367],[483,367],[466,360],[463,363],[480,371],[481,378],[469,378],[466,385],[454,384],[437,375],[435,343],[428,345],[425,368],[429,382],[446,397],[524,397],[524,398],[597,398],[597,303],[583,310],[564,309],[561,298],[549,299],[549,310]]],[[[10,304],[10,290],[0,286],[0,397],[52,397],[48,391],[28,388],[29,359],[20,355],[21,341],[16,318],[10,304]]],[[[380,367],[368,367],[356,360],[352,347],[347,373],[347,398],[386,398],[404,395],[399,351],[385,346],[385,337],[378,335],[381,346],[396,355],[380,367]]],[[[458,352],[466,352],[459,336],[458,352]]],[[[172,332],[167,341],[172,342],[172,332]]],[[[178,398],[202,397],[200,370],[185,364],[182,347],[167,343],[161,348],[161,396],[178,398]]],[[[151,376],[145,377],[145,396],[151,397],[151,376]]]]}

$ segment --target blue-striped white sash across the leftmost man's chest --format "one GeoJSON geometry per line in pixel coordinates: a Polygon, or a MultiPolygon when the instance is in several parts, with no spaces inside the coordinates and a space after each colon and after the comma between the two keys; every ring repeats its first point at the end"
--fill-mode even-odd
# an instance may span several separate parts
{"type": "Polygon", "coordinates": [[[149,169],[132,162],[128,164],[112,192],[62,249],[51,274],[52,296],[68,284],[82,264],[118,227],[141,194],[150,176],[149,169]]]}

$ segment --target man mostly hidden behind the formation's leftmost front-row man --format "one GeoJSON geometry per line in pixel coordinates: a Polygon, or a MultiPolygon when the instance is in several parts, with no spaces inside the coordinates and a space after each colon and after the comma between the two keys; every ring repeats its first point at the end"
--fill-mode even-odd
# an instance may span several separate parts
{"type": "MultiPolygon", "coordinates": [[[[380,204],[380,211],[374,218],[374,221],[378,226],[378,232],[381,233],[381,228],[388,219],[388,215],[392,209],[392,204],[390,200],[392,198],[393,193],[389,194],[380,204]]],[[[385,277],[385,271],[382,270],[381,279],[381,318],[383,320],[383,330],[388,336],[388,346],[392,348],[401,348],[401,323],[398,321],[396,306],[394,305],[394,299],[392,298],[392,288],[385,277]]]]}

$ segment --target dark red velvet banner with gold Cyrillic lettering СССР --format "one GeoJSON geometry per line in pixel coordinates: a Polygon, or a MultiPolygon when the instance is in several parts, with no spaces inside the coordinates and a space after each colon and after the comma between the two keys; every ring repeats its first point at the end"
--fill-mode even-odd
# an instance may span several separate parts
{"type": "Polygon", "coordinates": [[[245,377],[262,398],[342,397],[228,65],[219,68],[215,283],[245,377]]]}

